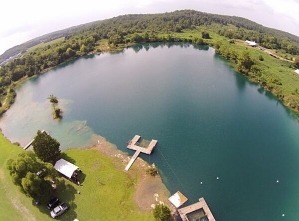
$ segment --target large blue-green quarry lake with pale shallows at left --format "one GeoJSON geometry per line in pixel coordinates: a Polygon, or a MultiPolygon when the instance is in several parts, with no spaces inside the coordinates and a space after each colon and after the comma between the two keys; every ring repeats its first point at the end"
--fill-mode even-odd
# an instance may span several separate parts
{"type": "Polygon", "coordinates": [[[45,129],[61,149],[98,134],[130,155],[135,134],[157,139],[140,156],[184,206],[204,197],[217,221],[299,219],[298,117],[207,46],[141,44],[67,62],[18,86],[0,128],[21,145],[45,129]]]}

